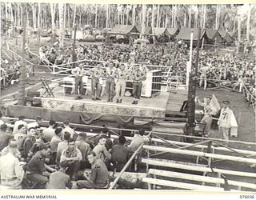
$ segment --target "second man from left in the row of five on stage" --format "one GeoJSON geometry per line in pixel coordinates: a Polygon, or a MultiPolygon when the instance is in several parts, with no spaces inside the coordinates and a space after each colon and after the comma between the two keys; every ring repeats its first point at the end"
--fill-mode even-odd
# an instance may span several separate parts
{"type": "Polygon", "coordinates": [[[91,97],[93,100],[101,100],[100,78],[102,78],[104,74],[102,64],[98,63],[96,67],[89,70],[89,73],[91,75],[91,97]]]}

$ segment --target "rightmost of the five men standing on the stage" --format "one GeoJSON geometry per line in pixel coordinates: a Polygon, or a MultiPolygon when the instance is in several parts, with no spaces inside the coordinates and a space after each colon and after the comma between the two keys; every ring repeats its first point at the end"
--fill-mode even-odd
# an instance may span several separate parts
{"type": "Polygon", "coordinates": [[[132,73],[133,77],[133,97],[134,102],[132,104],[138,104],[138,100],[141,98],[142,94],[142,81],[146,79],[146,73],[141,70],[140,66],[136,66],[134,72],[132,73]]]}

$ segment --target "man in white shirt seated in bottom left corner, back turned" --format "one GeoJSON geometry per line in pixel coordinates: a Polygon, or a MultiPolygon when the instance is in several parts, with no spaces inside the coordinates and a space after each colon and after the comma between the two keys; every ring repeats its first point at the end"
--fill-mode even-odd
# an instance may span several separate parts
{"type": "Polygon", "coordinates": [[[21,189],[24,171],[19,165],[18,158],[15,156],[18,146],[16,143],[10,144],[8,153],[0,157],[0,180],[2,186],[11,189],[21,189]]]}

